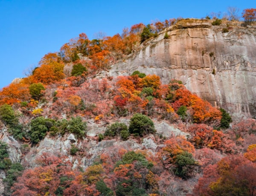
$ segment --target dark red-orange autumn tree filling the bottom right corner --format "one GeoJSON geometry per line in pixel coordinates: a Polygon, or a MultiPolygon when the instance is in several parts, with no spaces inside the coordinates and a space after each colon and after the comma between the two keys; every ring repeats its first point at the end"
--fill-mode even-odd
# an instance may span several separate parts
{"type": "Polygon", "coordinates": [[[204,195],[244,195],[255,196],[256,164],[242,156],[227,156],[206,169],[198,180],[196,193],[204,195]]]}

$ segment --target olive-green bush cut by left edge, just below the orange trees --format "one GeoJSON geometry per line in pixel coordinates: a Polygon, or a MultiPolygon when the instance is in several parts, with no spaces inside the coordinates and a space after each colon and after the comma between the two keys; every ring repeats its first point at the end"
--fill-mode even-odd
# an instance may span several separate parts
{"type": "Polygon", "coordinates": [[[0,106],[0,120],[3,121],[5,125],[9,126],[15,126],[19,123],[14,110],[7,104],[0,106]]]}

